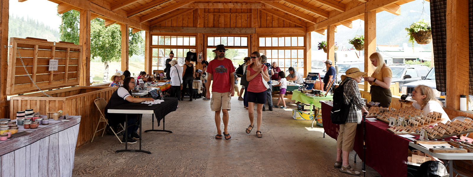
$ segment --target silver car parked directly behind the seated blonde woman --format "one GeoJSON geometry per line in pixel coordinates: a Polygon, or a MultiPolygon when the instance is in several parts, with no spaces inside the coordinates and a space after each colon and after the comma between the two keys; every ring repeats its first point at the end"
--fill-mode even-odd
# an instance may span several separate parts
{"type": "Polygon", "coordinates": [[[432,88],[432,90],[434,90],[435,97],[445,98],[445,92],[439,92],[437,90],[437,84],[435,82],[435,69],[434,69],[434,67],[432,67],[430,69],[429,74],[427,74],[427,76],[425,76],[425,77],[422,76],[422,80],[404,84],[401,87],[401,93],[403,93],[403,94],[412,93],[412,91],[414,90],[414,88],[417,85],[427,85],[430,88],[432,88]]]}

